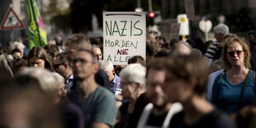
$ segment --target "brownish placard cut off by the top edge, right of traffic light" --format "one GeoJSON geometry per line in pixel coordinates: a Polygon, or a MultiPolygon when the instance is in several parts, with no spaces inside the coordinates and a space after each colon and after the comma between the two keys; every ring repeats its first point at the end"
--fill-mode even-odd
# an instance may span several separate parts
{"type": "Polygon", "coordinates": [[[185,11],[187,14],[187,19],[195,21],[195,10],[193,0],[185,0],[185,11]]]}

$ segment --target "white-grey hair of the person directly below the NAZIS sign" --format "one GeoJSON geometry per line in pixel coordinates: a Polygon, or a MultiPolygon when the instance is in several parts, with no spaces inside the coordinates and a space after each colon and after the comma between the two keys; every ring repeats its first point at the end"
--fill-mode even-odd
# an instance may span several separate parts
{"type": "Polygon", "coordinates": [[[120,72],[121,78],[126,78],[131,83],[140,83],[145,89],[146,68],[141,64],[129,64],[120,72]]]}

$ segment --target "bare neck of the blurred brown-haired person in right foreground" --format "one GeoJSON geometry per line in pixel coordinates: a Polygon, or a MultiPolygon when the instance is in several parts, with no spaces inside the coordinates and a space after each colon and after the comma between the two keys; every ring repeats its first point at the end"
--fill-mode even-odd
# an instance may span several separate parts
{"type": "Polygon", "coordinates": [[[201,116],[211,112],[214,107],[202,97],[192,95],[187,101],[182,102],[184,110],[184,121],[192,124],[198,121],[201,116]]]}

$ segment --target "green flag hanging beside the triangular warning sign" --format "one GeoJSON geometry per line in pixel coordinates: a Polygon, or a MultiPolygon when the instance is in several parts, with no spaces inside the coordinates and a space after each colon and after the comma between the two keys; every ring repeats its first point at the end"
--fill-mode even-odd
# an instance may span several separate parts
{"type": "Polygon", "coordinates": [[[47,36],[45,26],[40,12],[36,6],[35,0],[26,0],[27,22],[29,34],[29,49],[34,46],[45,46],[47,44],[47,36]]]}

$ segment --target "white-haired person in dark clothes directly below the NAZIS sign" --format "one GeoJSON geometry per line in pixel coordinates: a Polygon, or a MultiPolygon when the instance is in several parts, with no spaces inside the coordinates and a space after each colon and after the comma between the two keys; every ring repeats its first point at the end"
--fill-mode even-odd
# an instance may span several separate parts
{"type": "Polygon", "coordinates": [[[121,70],[121,94],[127,100],[119,108],[120,121],[117,127],[128,126],[131,113],[135,109],[135,102],[145,92],[146,69],[141,64],[129,64],[121,70]]]}

